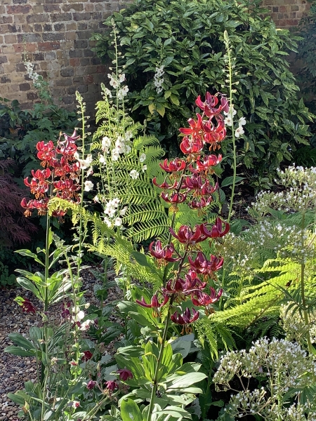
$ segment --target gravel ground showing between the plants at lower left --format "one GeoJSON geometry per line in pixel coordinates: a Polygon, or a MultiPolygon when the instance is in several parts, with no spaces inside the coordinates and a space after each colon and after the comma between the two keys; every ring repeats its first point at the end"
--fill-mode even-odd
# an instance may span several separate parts
{"type": "MultiPolygon", "coordinates": [[[[88,270],[82,273],[84,278],[83,289],[86,290],[86,302],[96,304],[97,300],[93,293],[93,285],[96,279],[88,270]]],[[[119,288],[109,290],[107,300],[111,302],[120,297],[119,288]]],[[[16,392],[24,388],[27,380],[33,382],[37,378],[36,360],[30,357],[20,357],[4,353],[4,348],[13,345],[8,338],[9,333],[21,333],[27,337],[29,328],[32,326],[41,326],[41,317],[32,313],[22,312],[21,307],[13,301],[18,295],[29,298],[36,307],[37,299],[29,291],[16,288],[14,290],[0,289],[0,421],[18,420],[19,407],[7,398],[8,392],[16,392]]],[[[50,310],[48,319],[55,319],[60,323],[60,305],[57,305],[58,311],[50,310]]]]}

